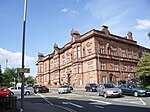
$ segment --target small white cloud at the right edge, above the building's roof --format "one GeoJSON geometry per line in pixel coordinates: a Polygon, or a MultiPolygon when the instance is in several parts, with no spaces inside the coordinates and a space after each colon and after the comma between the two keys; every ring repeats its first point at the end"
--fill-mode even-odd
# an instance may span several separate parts
{"type": "Polygon", "coordinates": [[[150,29],[150,20],[148,19],[137,19],[137,26],[135,26],[136,29],[139,30],[146,30],[150,29]]]}

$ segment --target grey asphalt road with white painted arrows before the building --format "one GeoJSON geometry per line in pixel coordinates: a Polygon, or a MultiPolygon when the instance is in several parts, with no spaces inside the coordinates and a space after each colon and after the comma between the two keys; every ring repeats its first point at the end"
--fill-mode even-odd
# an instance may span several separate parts
{"type": "MultiPolygon", "coordinates": [[[[150,112],[150,97],[123,96],[105,99],[98,96],[97,92],[84,90],[58,94],[57,89],[50,89],[49,93],[25,96],[25,102],[38,103],[43,107],[47,104],[55,105],[69,112],[150,112]]],[[[47,107],[47,112],[48,109],[47,107]]]]}

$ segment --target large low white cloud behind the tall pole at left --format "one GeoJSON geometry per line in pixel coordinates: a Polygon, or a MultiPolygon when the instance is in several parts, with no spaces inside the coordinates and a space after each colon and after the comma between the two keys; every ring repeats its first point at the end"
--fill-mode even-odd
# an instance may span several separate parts
{"type": "MultiPolygon", "coordinates": [[[[35,68],[36,59],[34,57],[25,56],[25,67],[35,68]]],[[[22,65],[22,53],[21,52],[11,52],[6,49],[0,48],[0,65],[2,69],[7,67],[21,67],[22,65]],[[8,60],[6,65],[6,60],[8,60]]],[[[30,70],[32,71],[32,70],[30,70]]],[[[35,74],[35,73],[34,73],[35,74]]]]}

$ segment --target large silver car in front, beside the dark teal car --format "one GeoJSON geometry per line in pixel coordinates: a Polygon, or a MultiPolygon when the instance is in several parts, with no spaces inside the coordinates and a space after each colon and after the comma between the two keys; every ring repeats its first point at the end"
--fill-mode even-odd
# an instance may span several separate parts
{"type": "Polygon", "coordinates": [[[122,96],[122,91],[113,83],[104,83],[97,86],[98,95],[107,97],[119,97],[122,96]]]}

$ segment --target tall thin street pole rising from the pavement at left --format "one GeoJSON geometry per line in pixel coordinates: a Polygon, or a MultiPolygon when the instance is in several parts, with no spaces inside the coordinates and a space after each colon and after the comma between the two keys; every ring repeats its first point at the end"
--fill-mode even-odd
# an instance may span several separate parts
{"type": "MultiPolygon", "coordinates": [[[[24,0],[24,21],[23,21],[23,40],[22,40],[22,69],[24,69],[26,10],[27,10],[27,0],[24,0]]],[[[21,109],[22,109],[22,112],[23,112],[24,111],[24,73],[22,73],[21,109]]]]}

